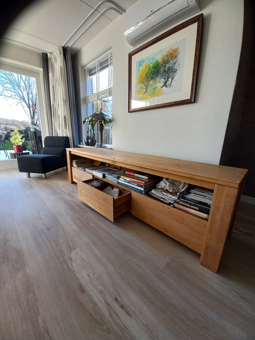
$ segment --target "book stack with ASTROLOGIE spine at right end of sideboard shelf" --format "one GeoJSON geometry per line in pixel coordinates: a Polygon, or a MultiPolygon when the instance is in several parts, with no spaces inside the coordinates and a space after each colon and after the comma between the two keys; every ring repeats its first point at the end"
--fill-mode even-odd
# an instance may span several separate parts
{"type": "Polygon", "coordinates": [[[213,190],[196,186],[179,192],[174,207],[208,219],[212,205],[213,190]]]}

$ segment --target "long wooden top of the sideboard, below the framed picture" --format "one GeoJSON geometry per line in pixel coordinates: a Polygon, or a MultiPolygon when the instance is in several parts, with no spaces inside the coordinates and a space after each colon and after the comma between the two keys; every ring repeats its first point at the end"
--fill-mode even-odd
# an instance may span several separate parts
{"type": "MultiPolygon", "coordinates": [[[[123,167],[136,167],[153,170],[156,174],[166,176],[166,173],[179,176],[189,176],[203,181],[238,187],[247,173],[247,169],[232,168],[214,164],[184,161],[166,157],[135,154],[104,148],[68,148],[72,154],[94,160],[109,162],[123,167]]],[[[133,168],[134,169],[134,168],[133,168]]],[[[135,169],[134,169],[135,170],[135,169]]]]}

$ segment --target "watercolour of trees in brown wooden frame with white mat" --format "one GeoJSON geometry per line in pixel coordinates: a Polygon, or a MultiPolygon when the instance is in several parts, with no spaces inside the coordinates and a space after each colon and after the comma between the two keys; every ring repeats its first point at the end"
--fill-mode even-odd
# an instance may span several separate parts
{"type": "Polygon", "coordinates": [[[203,14],[128,54],[128,112],[194,103],[203,14]]]}

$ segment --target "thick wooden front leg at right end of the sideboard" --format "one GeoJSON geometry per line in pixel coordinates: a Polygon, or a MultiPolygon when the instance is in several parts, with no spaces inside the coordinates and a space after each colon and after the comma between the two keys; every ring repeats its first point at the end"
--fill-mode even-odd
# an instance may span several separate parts
{"type": "Polygon", "coordinates": [[[217,273],[238,201],[238,188],[215,184],[200,264],[217,273]]]}

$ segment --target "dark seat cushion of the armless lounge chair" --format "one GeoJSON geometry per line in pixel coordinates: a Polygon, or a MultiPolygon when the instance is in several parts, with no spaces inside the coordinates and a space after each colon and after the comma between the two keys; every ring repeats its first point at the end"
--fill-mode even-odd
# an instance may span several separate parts
{"type": "Polygon", "coordinates": [[[65,160],[57,155],[24,155],[17,158],[20,172],[46,173],[64,168],[65,160]]]}

